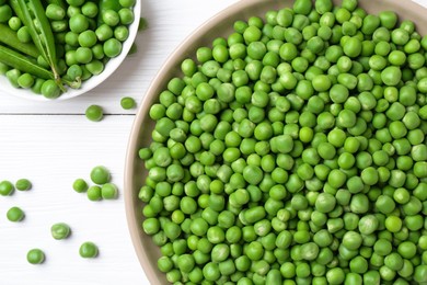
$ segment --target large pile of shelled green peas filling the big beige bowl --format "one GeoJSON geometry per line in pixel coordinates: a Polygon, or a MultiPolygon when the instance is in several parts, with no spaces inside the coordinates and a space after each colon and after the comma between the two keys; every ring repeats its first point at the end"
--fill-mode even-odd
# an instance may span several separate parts
{"type": "Polygon", "coordinates": [[[172,284],[427,282],[427,37],[296,0],[182,61],[139,150],[172,284]]]}

